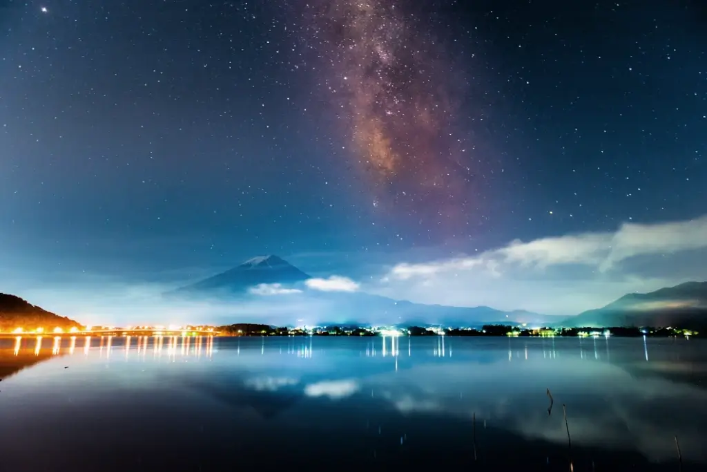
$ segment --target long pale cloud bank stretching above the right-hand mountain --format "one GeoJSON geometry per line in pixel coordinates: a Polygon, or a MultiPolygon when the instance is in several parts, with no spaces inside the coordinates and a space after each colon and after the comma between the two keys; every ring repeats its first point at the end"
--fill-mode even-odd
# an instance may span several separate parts
{"type": "Polygon", "coordinates": [[[629,292],[707,278],[707,215],[515,240],[482,253],[398,263],[365,289],[425,304],[572,315],[629,292]]]}

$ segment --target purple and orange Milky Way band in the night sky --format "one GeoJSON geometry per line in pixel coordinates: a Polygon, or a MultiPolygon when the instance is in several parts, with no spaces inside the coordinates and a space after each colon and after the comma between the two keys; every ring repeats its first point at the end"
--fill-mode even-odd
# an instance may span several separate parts
{"type": "Polygon", "coordinates": [[[321,0],[307,20],[327,69],[320,86],[346,123],[351,158],[388,200],[439,214],[472,199],[473,169],[454,131],[462,74],[428,16],[402,5],[321,0]]]}

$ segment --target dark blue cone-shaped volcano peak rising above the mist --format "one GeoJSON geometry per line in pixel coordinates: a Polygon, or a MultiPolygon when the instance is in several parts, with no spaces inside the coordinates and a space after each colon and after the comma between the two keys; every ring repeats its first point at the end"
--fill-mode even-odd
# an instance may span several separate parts
{"type": "Polygon", "coordinates": [[[173,294],[238,294],[258,284],[293,284],[310,278],[276,255],[260,255],[226,272],[181,287],[173,294]]]}

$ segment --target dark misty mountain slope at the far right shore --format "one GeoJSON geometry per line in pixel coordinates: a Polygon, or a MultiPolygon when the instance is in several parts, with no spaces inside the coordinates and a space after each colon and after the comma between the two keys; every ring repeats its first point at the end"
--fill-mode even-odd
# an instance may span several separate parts
{"type": "Polygon", "coordinates": [[[647,294],[628,294],[600,309],[568,318],[566,326],[707,326],[707,282],[686,282],[647,294]]]}

